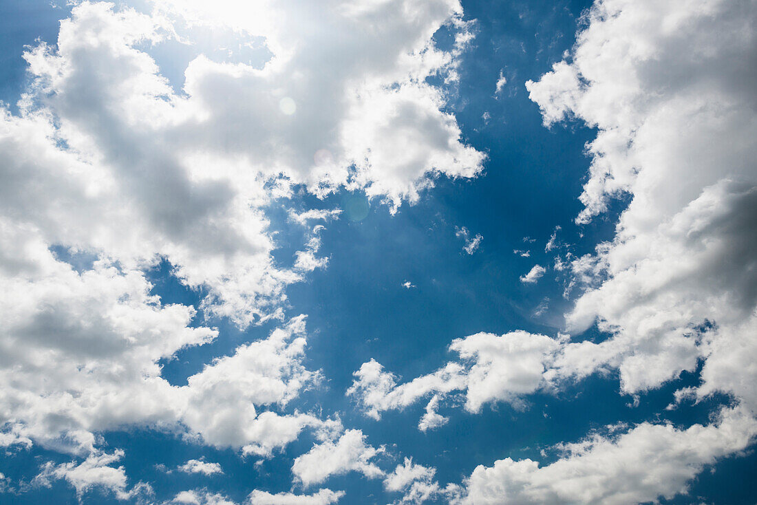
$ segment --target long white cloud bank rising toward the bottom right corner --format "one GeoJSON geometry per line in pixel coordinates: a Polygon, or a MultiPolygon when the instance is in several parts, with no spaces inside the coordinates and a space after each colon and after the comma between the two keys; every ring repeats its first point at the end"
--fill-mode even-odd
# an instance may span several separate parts
{"type": "Polygon", "coordinates": [[[567,444],[565,456],[547,466],[510,458],[478,466],[456,503],[656,503],[685,493],[704,466],[743,450],[755,434],[757,423],[742,409],[688,429],[643,422],[618,436],[567,444]]]}

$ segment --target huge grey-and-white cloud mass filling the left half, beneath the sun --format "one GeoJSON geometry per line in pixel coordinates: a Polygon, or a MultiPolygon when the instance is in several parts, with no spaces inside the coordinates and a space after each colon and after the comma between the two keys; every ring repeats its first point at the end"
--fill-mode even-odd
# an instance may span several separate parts
{"type": "MultiPolygon", "coordinates": [[[[139,5],[77,2],[57,44],[24,54],[31,84],[17,114],[0,109],[0,442],[85,457],[98,454],[97,432],[136,424],[265,457],[303,429],[334,435],[338,422],[281,413],[318,380],[301,364],[302,320],[185,386],[158,362],[217,337],[195,322],[198,308],[241,327],[283,319],[286,285],[326,266],[321,225],[291,266],[273,260],[265,210],[291,185],[360,188],[396,208],[435,176],[481,170],[426,80],[455,79],[470,38],[462,10],[335,1],[310,23],[312,2],[139,5]],[[198,55],[176,85],[148,54],[195,47],[193,30],[220,26],[263,40],[269,57],[198,55]],[[442,27],[449,51],[432,39],[442,27]],[[152,294],[148,270],[161,261],[200,307],[152,294]]],[[[69,470],[48,475],[73,482],[69,470]]]]}

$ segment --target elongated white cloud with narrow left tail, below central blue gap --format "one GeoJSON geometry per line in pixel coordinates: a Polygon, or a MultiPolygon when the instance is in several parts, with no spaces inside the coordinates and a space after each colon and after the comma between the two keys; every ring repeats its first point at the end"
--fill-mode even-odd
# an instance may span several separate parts
{"type": "Polygon", "coordinates": [[[382,411],[402,409],[433,395],[419,422],[419,429],[425,431],[446,422],[437,412],[441,397],[463,393],[466,410],[475,413],[496,401],[517,406],[526,394],[550,387],[555,376],[551,363],[559,348],[559,340],[545,335],[477,333],[450,344],[459,360],[403,384],[398,385],[397,377],[375,360],[363,363],[347,395],[374,419],[380,419],[382,411]]]}

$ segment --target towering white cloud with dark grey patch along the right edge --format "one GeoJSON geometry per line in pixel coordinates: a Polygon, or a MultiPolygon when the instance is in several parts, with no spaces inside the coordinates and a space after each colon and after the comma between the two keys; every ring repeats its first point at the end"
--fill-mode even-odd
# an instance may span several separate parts
{"type": "Polygon", "coordinates": [[[583,223],[631,195],[617,234],[573,271],[583,294],[567,319],[613,334],[566,350],[577,376],[621,373],[624,391],[659,387],[704,360],[700,394],[724,391],[752,407],[757,325],[753,229],[757,134],[751,2],[696,6],[598,2],[570,62],[528,83],[547,124],[575,117],[591,142],[583,223]],[[723,35],[725,34],[725,36],[723,35]],[[600,49],[601,48],[601,49],[600,49]],[[735,375],[732,375],[735,374],[735,375]]]}

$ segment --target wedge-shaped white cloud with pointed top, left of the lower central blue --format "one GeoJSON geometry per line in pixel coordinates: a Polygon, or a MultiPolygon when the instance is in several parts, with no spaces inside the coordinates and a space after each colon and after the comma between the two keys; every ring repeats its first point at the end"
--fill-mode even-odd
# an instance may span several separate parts
{"type": "Polygon", "coordinates": [[[235,354],[215,360],[187,379],[181,388],[185,404],[179,419],[207,444],[242,447],[245,454],[267,457],[295,440],[308,427],[331,433],[338,421],[323,421],[307,413],[281,415],[262,406],[284,407],[319,373],[302,364],[304,316],[274,330],[269,338],[238,347],[235,354]]]}

